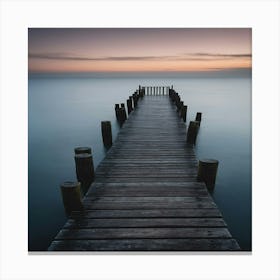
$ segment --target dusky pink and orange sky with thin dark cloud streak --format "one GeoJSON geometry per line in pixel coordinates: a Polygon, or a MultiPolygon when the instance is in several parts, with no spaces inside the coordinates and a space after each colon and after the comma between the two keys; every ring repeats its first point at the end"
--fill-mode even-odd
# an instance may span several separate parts
{"type": "Polygon", "coordinates": [[[250,69],[250,28],[29,28],[30,73],[250,69]]]}

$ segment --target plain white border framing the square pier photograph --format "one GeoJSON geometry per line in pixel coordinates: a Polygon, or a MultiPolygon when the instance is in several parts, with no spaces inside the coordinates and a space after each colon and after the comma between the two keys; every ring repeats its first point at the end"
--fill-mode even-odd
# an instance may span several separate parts
{"type": "Polygon", "coordinates": [[[280,279],[279,34],[278,1],[2,1],[0,278],[280,279]],[[28,27],[253,28],[252,255],[28,255],[28,27]]]}

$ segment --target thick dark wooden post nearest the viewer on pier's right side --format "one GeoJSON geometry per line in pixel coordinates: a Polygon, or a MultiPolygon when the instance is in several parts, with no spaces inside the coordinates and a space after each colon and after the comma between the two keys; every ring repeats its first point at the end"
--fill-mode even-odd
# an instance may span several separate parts
{"type": "Polygon", "coordinates": [[[219,161],[216,159],[200,159],[197,180],[205,182],[207,188],[213,189],[216,183],[219,161]]]}

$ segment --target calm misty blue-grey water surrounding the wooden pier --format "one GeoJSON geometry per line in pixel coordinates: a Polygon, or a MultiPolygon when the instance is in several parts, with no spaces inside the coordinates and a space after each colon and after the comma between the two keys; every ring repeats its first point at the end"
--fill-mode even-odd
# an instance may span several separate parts
{"type": "Polygon", "coordinates": [[[138,85],[174,85],[188,122],[203,112],[198,158],[220,161],[213,198],[243,250],[251,250],[251,78],[208,75],[57,75],[29,77],[29,250],[46,250],[65,223],[59,183],[75,180],[73,148],[105,155],[100,122],[138,85]]]}

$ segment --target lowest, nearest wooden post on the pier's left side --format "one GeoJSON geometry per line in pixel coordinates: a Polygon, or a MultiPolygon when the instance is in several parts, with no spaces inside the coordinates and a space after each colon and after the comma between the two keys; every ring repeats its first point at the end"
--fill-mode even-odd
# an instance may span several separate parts
{"type": "Polygon", "coordinates": [[[72,211],[83,210],[81,201],[81,184],[79,182],[64,182],[60,185],[64,209],[67,215],[72,211]]]}

